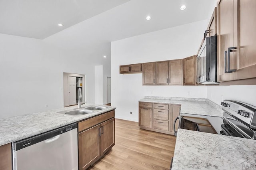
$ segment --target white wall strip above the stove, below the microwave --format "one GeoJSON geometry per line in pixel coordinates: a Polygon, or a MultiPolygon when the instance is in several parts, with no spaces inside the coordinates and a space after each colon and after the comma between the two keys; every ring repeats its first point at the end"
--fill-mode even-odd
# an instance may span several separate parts
{"type": "Polygon", "coordinates": [[[209,86],[207,98],[217,104],[230,99],[256,106],[256,85],[209,86]]]}

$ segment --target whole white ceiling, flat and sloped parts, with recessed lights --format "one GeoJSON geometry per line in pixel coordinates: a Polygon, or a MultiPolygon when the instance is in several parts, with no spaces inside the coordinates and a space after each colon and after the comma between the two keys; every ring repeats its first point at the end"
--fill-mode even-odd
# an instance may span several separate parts
{"type": "Polygon", "coordinates": [[[0,33],[44,39],[72,51],[72,57],[102,64],[110,61],[102,57],[110,56],[110,42],[209,20],[216,1],[0,0],[0,33]]]}

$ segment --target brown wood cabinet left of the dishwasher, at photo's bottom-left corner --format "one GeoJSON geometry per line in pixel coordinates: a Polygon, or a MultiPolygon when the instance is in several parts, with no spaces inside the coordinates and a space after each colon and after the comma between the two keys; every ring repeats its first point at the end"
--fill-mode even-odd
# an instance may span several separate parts
{"type": "Polygon", "coordinates": [[[12,170],[12,145],[10,143],[0,146],[0,169],[12,170]]]}

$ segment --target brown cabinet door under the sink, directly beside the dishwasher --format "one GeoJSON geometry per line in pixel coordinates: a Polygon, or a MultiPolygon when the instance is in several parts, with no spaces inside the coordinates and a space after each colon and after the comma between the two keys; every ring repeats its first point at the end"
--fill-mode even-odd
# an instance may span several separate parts
{"type": "Polygon", "coordinates": [[[78,133],[79,170],[85,170],[100,158],[100,125],[78,133]]]}

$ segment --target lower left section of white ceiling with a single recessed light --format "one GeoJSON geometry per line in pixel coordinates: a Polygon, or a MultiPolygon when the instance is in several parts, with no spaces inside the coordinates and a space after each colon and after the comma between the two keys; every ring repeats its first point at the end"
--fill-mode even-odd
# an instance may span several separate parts
{"type": "Polygon", "coordinates": [[[44,39],[128,1],[0,0],[0,33],[44,39]]]}

